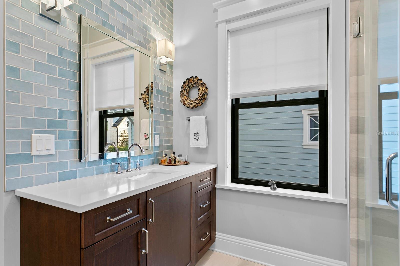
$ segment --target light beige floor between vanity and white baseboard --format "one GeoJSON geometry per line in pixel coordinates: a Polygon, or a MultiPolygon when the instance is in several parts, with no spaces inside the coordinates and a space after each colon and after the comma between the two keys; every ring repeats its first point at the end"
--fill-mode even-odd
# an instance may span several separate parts
{"type": "Polygon", "coordinates": [[[196,266],[262,266],[262,264],[208,250],[196,266]]]}

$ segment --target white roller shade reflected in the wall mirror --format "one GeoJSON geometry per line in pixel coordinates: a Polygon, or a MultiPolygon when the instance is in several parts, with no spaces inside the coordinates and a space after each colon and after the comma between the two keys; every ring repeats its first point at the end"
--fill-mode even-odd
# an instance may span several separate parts
{"type": "Polygon", "coordinates": [[[96,111],[134,106],[134,56],[95,66],[96,111]]]}

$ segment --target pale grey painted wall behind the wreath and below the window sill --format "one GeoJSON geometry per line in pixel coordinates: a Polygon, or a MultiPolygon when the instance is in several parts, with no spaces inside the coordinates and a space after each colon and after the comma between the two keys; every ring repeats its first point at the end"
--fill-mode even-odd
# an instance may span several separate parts
{"type": "MultiPolygon", "coordinates": [[[[217,161],[217,19],[214,0],[174,1],[174,150],[190,161],[217,161]],[[189,10],[196,10],[188,12],[189,10]],[[191,75],[207,83],[208,100],[197,109],[180,103],[180,86],[191,75]],[[207,149],[189,147],[190,115],[208,116],[207,149]]],[[[224,103],[222,103],[224,104],[224,103]]],[[[259,193],[217,190],[217,232],[347,261],[347,206],[259,193]]]]}

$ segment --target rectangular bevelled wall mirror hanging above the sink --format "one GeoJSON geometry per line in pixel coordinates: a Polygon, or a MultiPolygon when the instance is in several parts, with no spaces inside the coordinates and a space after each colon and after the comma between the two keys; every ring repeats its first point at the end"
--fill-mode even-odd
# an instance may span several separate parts
{"type": "Polygon", "coordinates": [[[153,54],[81,16],[80,63],[81,161],[151,154],[153,54]]]}

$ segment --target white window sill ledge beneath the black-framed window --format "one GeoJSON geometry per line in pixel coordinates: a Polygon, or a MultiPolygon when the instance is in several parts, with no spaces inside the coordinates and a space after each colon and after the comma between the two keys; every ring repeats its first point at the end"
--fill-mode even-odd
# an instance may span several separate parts
{"type": "Polygon", "coordinates": [[[218,189],[230,189],[236,191],[246,191],[252,193],[262,193],[268,195],[277,195],[283,197],[292,197],[298,199],[309,199],[309,200],[320,200],[326,202],[334,202],[347,204],[346,199],[333,199],[330,194],[326,193],[317,193],[310,191],[299,191],[294,189],[280,189],[278,188],[276,191],[272,191],[269,187],[258,187],[251,185],[242,185],[242,184],[229,184],[229,185],[215,185],[218,189]]]}

